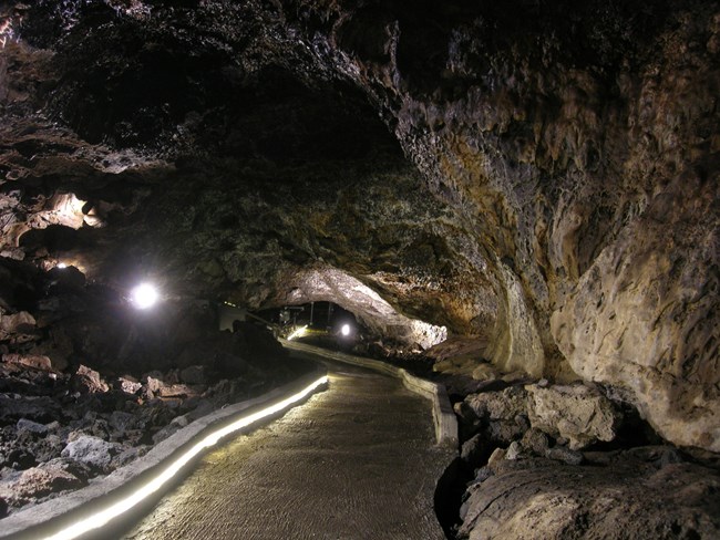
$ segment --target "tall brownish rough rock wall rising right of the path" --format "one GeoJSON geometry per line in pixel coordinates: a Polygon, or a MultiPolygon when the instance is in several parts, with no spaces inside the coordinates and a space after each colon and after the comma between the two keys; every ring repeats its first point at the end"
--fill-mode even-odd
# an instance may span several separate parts
{"type": "Polygon", "coordinates": [[[493,255],[493,360],[718,450],[718,6],[290,3],[493,255]]]}

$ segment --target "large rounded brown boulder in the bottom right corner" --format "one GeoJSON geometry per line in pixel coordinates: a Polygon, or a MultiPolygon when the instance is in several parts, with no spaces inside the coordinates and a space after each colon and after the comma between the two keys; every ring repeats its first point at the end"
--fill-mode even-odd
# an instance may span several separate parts
{"type": "Polygon", "coordinates": [[[717,470],[610,459],[592,467],[495,460],[469,489],[457,538],[720,538],[717,470]]]}

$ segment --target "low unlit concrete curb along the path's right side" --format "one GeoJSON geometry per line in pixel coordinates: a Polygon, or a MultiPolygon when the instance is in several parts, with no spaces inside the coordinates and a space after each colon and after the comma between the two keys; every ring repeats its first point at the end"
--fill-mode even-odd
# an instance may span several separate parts
{"type": "Polygon", "coordinates": [[[379,360],[353,356],[338,351],[328,351],[327,349],[308,345],[307,343],[287,340],[279,341],[285,347],[294,351],[306,352],[328,360],[367,367],[400,378],[408,390],[432,402],[432,417],[438,444],[457,449],[457,418],[455,418],[455,413],[450,404],[450,397],[448,397],[448,391],[444,386],[420,378],[402,367],[397,367],[379,360]]]}

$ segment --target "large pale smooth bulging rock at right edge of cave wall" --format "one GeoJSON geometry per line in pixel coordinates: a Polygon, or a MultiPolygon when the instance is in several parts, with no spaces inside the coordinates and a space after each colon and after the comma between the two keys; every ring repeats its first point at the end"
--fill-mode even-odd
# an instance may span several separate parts
{"type": "Polygon", "coordinates": [[[720,451],[718,229],[698,235],[712,189],[688,179],[651,201],[551,323],[579,376],[626,388],[666,439],[720,451]]]}

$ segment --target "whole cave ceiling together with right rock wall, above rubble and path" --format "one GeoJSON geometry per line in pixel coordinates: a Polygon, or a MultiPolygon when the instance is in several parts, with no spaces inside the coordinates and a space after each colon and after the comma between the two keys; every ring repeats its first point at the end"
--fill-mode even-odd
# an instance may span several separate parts
{"type": "Polygon", "coordinates": [[[0,10],[4,276],[422,320],[720,449],[716,2],[0,10]]]}

